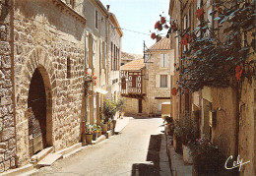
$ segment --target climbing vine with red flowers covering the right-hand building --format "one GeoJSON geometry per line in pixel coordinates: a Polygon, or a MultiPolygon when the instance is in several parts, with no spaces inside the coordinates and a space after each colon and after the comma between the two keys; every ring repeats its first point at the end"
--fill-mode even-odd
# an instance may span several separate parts
{"type": "MultiPolygon", "coordinates": [[[[247,79],[256,79],[255,3],[245,0],[214,0],[214,26],[205,18],[203,8],[196,11],[196,29],[182,29],[176,21],[164,17],[155,29],[175,32],[183,47],[180,58],[181,92],[193,92],[208,87],[236,87],[247,79]],[[163,20],[164,19],[164,20],[163,20]]],[[[152,34],[156,38],[156,33],[152,34]]]]}

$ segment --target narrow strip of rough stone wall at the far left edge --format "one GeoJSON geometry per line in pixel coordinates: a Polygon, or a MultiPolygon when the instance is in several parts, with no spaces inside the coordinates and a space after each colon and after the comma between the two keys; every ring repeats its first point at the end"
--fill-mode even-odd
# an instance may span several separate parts
{"type": "Polygon", "coordinates": [[[0,2],[0,172],[15,167],[11,2],[0,2]]]}

